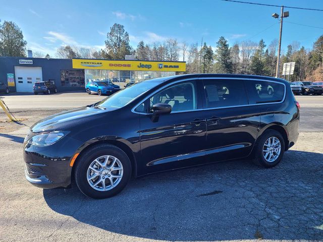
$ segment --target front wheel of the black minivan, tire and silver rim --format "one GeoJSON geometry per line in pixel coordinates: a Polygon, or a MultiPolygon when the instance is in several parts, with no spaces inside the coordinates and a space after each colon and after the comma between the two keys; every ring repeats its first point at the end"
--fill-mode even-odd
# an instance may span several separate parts
{"type": "Polygon", "coordinates": [[[120,148],[96,145],[84,154],[75,168],[78,188],[88,197],[109,198],[120,193],[131,176],[131,163],[120,148]]]}

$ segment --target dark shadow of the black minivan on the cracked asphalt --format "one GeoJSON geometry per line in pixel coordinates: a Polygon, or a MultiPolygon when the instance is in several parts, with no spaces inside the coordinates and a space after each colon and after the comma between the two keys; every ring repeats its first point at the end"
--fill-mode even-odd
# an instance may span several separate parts
{"type": "Polygon", "coordinates": [[[166,240],[323,239],[323,154],[272,169],[232,161],[133,179],[116,197],[44,190],[48,206],[108,231],[166,240]]]}

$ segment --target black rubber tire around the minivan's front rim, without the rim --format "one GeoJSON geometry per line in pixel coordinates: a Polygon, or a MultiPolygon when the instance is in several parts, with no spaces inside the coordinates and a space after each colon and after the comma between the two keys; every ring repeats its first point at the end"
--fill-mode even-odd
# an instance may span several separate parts
{"type": "Polygon", "coordinates": [[[127,154],[117,146],[100,144],[91,147],[84,154],[81,154],[74,174],[76,185],[84,195],[95,199],[110,198],[120,193],[127,185],[131,177],[131,163],[127,154]],[[108,191],[97,191],[87,181],[87,169],[93,160],[103,155],[111,155],[118,158],[123,167],[123,175],[116,187],[108,191]]]}

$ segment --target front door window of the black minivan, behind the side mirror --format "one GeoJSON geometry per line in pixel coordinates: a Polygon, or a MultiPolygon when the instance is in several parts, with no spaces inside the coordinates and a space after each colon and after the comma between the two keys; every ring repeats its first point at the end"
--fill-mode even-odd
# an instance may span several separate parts
{"type": "Polygon", "coordinates": [[[197,109],[195,81],[174,84],[161,90],[150,97],[150,111],[157,103],[166,103],[172,106],[174,111],[187,111],[197,109]]]}

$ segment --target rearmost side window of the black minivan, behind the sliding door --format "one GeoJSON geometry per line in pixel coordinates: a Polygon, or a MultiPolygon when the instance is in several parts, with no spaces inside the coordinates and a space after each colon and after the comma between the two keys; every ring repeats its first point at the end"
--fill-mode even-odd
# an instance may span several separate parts
{"type": "Polygon", "coordinates": [[[280,102],[284,98],[284,84],[245,80],[245,85],[249,97],[249,104],[280,102]]]}

